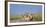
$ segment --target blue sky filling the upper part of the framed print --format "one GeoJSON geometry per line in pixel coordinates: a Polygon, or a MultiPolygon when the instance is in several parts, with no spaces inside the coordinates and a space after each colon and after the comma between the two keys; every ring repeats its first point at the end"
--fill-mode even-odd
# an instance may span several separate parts
{"type": "Polygon", "coordinates": [[[42,11],[42,5],[10,4],[10,14],[18,15],[25,12],[37,13],[42,11]]]}

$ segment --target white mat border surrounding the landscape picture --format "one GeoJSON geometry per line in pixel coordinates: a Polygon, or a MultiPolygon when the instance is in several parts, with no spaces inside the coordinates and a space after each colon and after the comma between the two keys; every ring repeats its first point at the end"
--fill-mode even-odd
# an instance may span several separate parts
{"type": "Polygon", "coordinates": [[[8,2],[8,25],[38,24],[38,23],[44,23],[44,5],[43,4],[8,2]],[[39,21],[39,22],[10,23],[10,4],[42,5],[42,21],[39,21]]]}

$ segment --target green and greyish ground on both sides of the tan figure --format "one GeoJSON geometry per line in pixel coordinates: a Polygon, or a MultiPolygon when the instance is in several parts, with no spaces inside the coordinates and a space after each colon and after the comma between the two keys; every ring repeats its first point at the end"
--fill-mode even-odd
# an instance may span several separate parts
{"type": "MultiPolygon", "coordinates": [[[[32,15],[32,21],[42,21],[42,14],[33,14],[32,15]]],[[[11,16],[10,17],[10,21],[11,23],[15,23],[15,22],[25,22],[23,16],[11,16]]]]}

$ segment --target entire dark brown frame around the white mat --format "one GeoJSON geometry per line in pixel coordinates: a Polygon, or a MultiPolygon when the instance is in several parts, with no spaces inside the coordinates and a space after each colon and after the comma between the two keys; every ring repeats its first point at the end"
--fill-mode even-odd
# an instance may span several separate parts
{"type": "MultiPolygon", "coordinates": [[[[41,2],[25,2],[25,1],[11,1],[11,2],[23,2],[23,3],[39,3],[39,4],[43,4],[44,5],[44,23],[21,24],[21,25],[23,26],[23,25],[40,25],[40,24],[45,24],[45,3],[41,3],[41,2]]],[[[13,25],[13,26],[21,26],[21,25],[13,25]]],[[[8,26],[8,1],[5,1],[5,26],[8,26]]]]}

